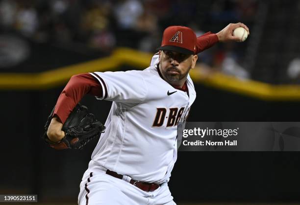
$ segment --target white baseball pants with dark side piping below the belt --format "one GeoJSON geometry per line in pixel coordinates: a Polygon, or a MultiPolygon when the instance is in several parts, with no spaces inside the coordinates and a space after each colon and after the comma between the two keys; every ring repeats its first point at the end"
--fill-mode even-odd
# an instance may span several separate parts
{"type": "Polygon", "coordinates": [[[78,205],[176,205],[163,183],[155,191],[138,187],[103,173],[85,173],[80,183],[78,205]]]}

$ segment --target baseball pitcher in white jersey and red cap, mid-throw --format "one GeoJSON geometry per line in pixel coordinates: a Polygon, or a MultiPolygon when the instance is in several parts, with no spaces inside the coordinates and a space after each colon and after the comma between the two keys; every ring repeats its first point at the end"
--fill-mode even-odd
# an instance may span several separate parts
{"type": "Polygon", "coordinates": [[[189,27],[170,26],[144,70],[92,72],[72,76],[60,94],[47,132],[59,142],[63,123],[87,93],[113,101],[106,131],[80,183],[79,205],[175,205],[168,182],[177,158],[177,123],[196,98],[190,69],[197,53],[232,35],[243,23],[196,37],[189,27]]]}

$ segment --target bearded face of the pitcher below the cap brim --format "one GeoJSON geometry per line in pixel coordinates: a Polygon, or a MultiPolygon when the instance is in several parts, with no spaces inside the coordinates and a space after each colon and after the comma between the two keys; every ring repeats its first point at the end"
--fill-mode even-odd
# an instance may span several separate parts
{"type": "Polygon", "coordinates": [[[196,65],[197,55],[175,51],[159,51],[159,68],[164,79],[173,86],[183,86],[191,68],[196,65]]]}

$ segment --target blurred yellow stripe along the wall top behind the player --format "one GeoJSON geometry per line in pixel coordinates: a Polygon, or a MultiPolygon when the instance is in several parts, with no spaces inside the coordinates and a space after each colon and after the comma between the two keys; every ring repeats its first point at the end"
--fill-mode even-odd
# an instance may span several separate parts
{"type": "MultiPolygon", "coordinates": [[[[118,70],[122,65],[131,66],[133,69],[147,68],[152,55],[130,48],[117,48],[109,57],[40,73],[2,73],[0,74],[0,89],[43,90],[62,86],[72,75],[78,73],[118,70]]],[[[190,75],[195,83],[262,100],[300,100],[300,86],[298,85],[271,85],[253,80],[240,80],[220,72],[203,77],[200,69],[191,70],[190,75]]]]}

